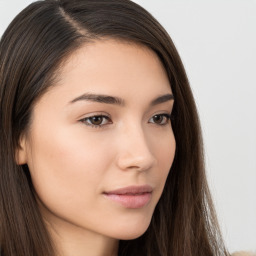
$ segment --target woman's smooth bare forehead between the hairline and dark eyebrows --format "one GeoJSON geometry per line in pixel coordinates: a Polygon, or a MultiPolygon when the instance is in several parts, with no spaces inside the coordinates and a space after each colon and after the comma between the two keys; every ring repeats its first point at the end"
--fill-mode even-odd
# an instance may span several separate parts
{"type": "Polygon", "coordinates": [[[81,93],[137,100],[171,93],[165,68],[154,51],[113,39],[86,43],[76,50],[59,69],[56,85],[50,91],[69,101],[81,93]]]}

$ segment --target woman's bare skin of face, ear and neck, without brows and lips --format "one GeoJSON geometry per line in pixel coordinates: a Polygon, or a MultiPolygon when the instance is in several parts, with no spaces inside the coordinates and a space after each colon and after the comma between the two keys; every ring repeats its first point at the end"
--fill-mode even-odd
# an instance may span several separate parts
{"type": "Polygon", "coordinates": [[[120,239],[147,230],[175,154],[171,121],[162,116],[171,113],[173,100],[151,104],[166,94],[170,83],[153,51],[107,39],[74,52],[35,104],[18,163],[29,166],[59,255],[117,255],[120,239]],[[79,98],[88,93],[123,104],[79,98]],[[88,117],[97,115],[107,118],[92,126],[88,117]],[[151,200],[137,209],[103,194],[145,184],[153,188],[151,200]]]}

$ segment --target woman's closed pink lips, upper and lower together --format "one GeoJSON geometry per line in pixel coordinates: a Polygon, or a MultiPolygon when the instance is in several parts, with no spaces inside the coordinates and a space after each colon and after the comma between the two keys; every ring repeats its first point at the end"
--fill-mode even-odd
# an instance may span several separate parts
{"type": "Polygon", "coordinates": [[[149,185],[129,186],[104,192],[104,196],[125,208],[138,209],[147,205],[152,197],[153,188],[149,185]]]}

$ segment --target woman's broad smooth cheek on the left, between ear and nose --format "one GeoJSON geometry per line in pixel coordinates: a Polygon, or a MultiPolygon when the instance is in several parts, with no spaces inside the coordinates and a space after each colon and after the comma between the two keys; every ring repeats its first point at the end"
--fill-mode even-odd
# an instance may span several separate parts
{"type": "Polygon", "coordinates": [[[54,209],[93,205],[111,164],[111,149],[79,131],[37,131],[28,164],[39,198],[54,209]]]}

